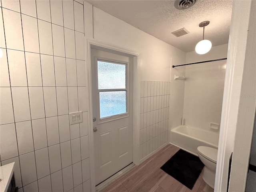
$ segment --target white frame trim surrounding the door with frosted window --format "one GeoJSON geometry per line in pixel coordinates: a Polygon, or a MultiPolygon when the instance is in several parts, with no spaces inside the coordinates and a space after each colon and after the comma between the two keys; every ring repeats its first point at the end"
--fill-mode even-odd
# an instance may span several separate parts
{"type": "Polygon", "coordinates": [[[122,54],[133,58],[133,144],[132,144],[132,161],[134,164],[139,164],[139,134],[140,134],[140,54],[131,50],[120,48],[111,44],[106,44],[96,39],[85,37],[85,53],[86,53],[86,74],[88,82],[88,136],[90,150],[90,179],[91,190],[96,191],[95,187],[95,165],[94,165],[94,132],[92,122],[92,62],[91,48],[108,51],[116,54],[122,54]]]}

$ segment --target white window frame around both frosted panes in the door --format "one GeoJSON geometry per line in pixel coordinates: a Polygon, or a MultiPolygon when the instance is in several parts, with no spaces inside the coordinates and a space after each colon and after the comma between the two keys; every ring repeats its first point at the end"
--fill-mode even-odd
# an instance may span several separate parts
{"type": "Polygon", "coordinates": [[[129,117],[130,113],[129,113],[129,62],[124,62],[124,61],[120,61],[120,60],[113,60],[110,58],[102,58],[102,57],[96,57],[96,74],[97,74],[97,88],[96,88],[96,92],[97,92],[97,115],[98,115],[98,124],[102,124],[105,122],[110,122],[113,120],[117,120],[117,119],[121,119],[121,118],[126,118],[129,117]],[[126,79],[125,79],[125,88],[121,88],[121,89],[99,89],[99,84],[98,84],[98,61],[101,62],[108,62],[108,63],[113,63],[113,64],[121,64],[121,65],[125,65],[126,66],[126,79]],[[100,118],[100,92],[114,92],[114,91],[126,91],[126,112],[122,113],[122,114],[116,114],[113,116],[108,116],[108,117],[103,117],[100,118]]]}

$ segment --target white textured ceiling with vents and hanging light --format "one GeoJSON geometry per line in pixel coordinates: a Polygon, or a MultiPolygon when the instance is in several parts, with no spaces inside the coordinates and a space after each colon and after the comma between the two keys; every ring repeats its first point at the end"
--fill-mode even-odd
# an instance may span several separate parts
{"type": "Polygon", "coordinates": [[[185,52],[202,40],[198,24],[209,20],[204,37],[212,46],[228,43],[232,0],[197,0],[186,10],[177,10],[174,0],[88,0],[93,6],[119,18],[185,52]],[[189,34],[176,37],[171,32],[186,28],[189,34]]]}

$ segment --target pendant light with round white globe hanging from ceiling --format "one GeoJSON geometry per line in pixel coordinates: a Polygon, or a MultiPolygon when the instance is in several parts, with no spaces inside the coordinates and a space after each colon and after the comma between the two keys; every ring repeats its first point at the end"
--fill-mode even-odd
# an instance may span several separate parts
{"type": "MultiPolygon", "coordinates": [[[[210,23],[210,21],[203,21],[199,24],[199,27],[205,27],[207,26],[208,24],[210,23]]],[[[206,54],[207,52],[209,52],[212,48],[212,43],[207,40],[207,39],[204,39],[204,30],[203,30],[203,40],[201,40],[200,42],[198,42],[196,44],[196,52],[200,55],[202,54],[206,54]]]]}

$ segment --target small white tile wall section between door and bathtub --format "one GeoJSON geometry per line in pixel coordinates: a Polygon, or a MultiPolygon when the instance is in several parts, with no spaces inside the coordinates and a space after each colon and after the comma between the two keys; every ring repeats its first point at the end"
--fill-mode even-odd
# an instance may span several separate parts
{"type": "Polygon", "coordinates": [[[140,159],[168,142],[170,82],[140,83],[140,159]]]}

